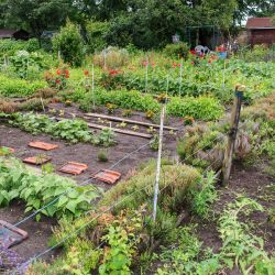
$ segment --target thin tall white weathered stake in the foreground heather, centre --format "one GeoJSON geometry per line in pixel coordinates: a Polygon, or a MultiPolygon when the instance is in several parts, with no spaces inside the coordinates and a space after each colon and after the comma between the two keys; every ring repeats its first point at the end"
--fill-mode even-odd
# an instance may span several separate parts
{"type": "Polygon", "coordinates": [[[160,127],[158,154],[157,154],[155,193],[154,193],[154,210],[153,210],[154,222],[156,220],[158,186],[160,186],[160,177],[161,177],[161,164],[162,164],[162,151],[163,151],[163,125],[164,125],[164,118],[165,118],[165,106],[166,106],[165,103],[162,106],[162,112],[161,112],[161,127],[160,127]]]}

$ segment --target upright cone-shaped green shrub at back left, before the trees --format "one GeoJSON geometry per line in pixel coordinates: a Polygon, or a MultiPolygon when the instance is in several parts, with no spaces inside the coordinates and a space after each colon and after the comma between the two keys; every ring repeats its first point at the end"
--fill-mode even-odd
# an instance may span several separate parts
{"type": "Polygon", "coordinates": [[[61,51],[65,63],[73,66],[80,66],[84,59],[82,37],[75,24],[67,21],[61,32],[53,37],[53,48],[57,53],[61,51]]]}

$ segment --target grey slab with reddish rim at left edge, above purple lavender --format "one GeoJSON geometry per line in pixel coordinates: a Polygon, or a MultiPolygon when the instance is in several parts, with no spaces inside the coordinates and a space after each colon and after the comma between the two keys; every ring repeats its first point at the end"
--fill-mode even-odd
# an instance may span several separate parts
{"type": "Polygon", "coordinates": [[[11,223],[0,220],[0,246],[6,249],[21,243],[28,238],[28,232],[15,228],[11,223]]]}

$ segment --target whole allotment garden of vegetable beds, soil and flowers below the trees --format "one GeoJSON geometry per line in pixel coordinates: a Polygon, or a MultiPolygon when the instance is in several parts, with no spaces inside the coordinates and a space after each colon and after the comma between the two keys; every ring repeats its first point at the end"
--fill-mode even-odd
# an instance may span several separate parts
{"type": "Polygon", "coordinates": [[[273,62],[110,47],[72,67],[11,55],[0,73],[0,216],[29,238],[0,245],[0,272],[273,274],[273,62]],[[19,69],[22,58],[31,65],[19,69]]]}

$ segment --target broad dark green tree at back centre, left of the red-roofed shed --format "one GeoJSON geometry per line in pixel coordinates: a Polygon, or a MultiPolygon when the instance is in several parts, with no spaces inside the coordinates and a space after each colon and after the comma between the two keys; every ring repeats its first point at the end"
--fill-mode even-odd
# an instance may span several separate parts
{"type": "Polygon", "coordinates": [[[128,0],[127,10],[110,20],[110,44],[139,47],[162,47],[175,33],[184,34],[187,25],[218,25],[228,29],[233,23],[237,0],[128,0]]]}

